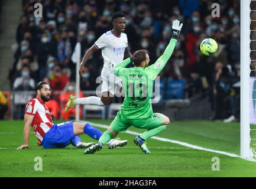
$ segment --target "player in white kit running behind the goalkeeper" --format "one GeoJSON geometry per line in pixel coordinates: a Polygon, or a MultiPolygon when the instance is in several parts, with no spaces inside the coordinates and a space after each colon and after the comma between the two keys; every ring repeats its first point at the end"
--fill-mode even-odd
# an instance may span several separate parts
{"type": "MultiPolygon", "coordinates": [[[[118,86],[122,86],[121,79],[114,74],[114,67],[125,58],[131,57],[128,50],[127,34],[125,30],[125,14],[122,12],[115,12],[112,15],[113,30],[107,31],[99,37],[99,39],[86,51],[85,56],[80,64],[79,74],[82,76],[85,73],[86,61],[92,54],[101,49],[102,57],[104,59],[103,69],[101,71],[102,83],[102,97],[89,96],[83,98],[75,98],[70,96],[66,104],[65,111],[69,110],[75,105],[98,105],[106,106],[111,103],[114,97],[115,90],[118,86]]],[[[114,142],[119,142],[115,140],[114,142]]],[[[118,145],[118,144],[117,144],[118,145]]]]}

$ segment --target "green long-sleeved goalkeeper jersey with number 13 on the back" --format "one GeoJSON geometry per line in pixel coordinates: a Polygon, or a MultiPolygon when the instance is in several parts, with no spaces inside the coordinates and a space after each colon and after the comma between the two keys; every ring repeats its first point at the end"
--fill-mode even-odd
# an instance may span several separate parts
{"type": "Polygon", "coordinates": [[[145,119],[153,116],[151,96],[155,77],[163,70],[173,53],[177,40],[172,38],[163,55],[151,66],[125,68],[131,62],[127,58],[114,67],[116,76],[122,80],[125,99],[121,106],[122,116],[128,119],[145,119]]]}

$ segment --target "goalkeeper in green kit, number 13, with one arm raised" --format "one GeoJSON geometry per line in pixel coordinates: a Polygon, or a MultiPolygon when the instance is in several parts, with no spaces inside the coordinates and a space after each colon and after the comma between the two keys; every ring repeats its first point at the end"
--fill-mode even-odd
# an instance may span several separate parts
{"type": "Polygon", "coordinates": [[[163,70],[171,57],[182,26],[183,24],[180,24],[179,20],[173,21],[173,35],[170,43],[163,55],[151,66],[148,66],[150,57],[147,50],[138,50],[132,57],[125,59],[114,67],[116,76],[119,76],[124,83],[126,92],[124,103],[108,130],[99,138],[99,142],[87,148],[84,154],[93,154],[100,151],[106,142],[118,135],[119,132],[125,132],[129,126],[147,129],[134,139],[134,143],[140,146],[142,152],[150,154],[145,141],[151,136],[164,131],[170,123],[167,116],[161,113],[153,113],[151,105],[153,83],[155,77],[163,70]],[[131,61],[134,63],[134,67],[125,68],[131,61]]]}

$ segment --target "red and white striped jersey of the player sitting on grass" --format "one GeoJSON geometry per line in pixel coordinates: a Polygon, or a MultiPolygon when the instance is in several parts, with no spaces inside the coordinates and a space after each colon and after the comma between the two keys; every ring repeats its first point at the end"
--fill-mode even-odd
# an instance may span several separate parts
{"type": "Polygon", "coordinates": [[[41,144],[44,139],[44,135],[53,126],[53,119],[51,118],[48,107],[41,99],[31,99],[27,103],[25,114],[34,115],[31,126],[33,127],[35,137],[41,144]]]}

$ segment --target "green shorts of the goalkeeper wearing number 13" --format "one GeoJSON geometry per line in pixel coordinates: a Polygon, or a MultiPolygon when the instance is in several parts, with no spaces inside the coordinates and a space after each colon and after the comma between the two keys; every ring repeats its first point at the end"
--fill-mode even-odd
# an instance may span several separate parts
{"type": "Polygon", "coordinates": [[[110,126],[115,132],[125,132],[130,126],[148,130],[157,128],[161,125],[162,121],[163,115],[161,113],[153,113],[153,116],[146,119],[127,119],[119,111],[110,126]]]}

